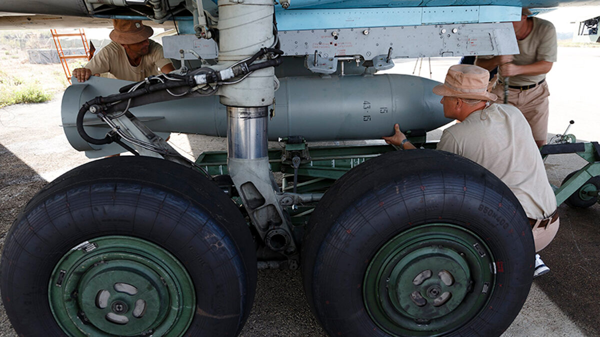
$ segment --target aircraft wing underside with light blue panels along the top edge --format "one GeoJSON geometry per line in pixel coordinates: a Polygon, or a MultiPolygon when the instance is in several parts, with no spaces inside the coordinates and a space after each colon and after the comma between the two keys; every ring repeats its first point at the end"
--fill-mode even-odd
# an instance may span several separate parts
{"type": "MultiPolygon", "coordinates": [[[[166,23],[191,20],[185,0],[169,0],[162,17],[153,17],[145,0],[4,0],[0,2],[0,29],[104,27],[107,19],[148,19],[166,23]],[[15,14],[19,13],[19,14],[15,14]],[[24,15],[23,15],[24,14],[24,15]],[[95,18],[95,19],[91,19],[95,18]]],[[[216,0],[203,0],[209,13],[217,12],[216,0]]],[[[553,8],[598,5],[598,0],[283,0],[278,7],[280,31],[293,29],[410,26],[448,23],[508,22],[515,8],[553,8]]],[[[539,12],[539,11],[538,11],[539,12]]],[[[536,13],[536,11],[534,11],[536,13]]]]}

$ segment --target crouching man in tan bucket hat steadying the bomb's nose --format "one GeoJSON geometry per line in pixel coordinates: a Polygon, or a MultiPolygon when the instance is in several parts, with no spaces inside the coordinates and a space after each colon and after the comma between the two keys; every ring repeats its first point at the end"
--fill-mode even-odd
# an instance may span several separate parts
{"type": "MultiPolygon", "coordinates": [[[[529,124],[516,107],[493,103],[497,96],[488,92],[488,79],[484,68],[458,64],[450,67],[443,85],[433,88],[442,96],[444,116],[461,122],[443,131],[437,149],[475,161],[511,189],[532,225],[537,252],[559,228],[556,198],[529,124]]],[[[383,137],[386,143],[414,149],[398,124],[394,128],[393,136],[383,137]]],[[[536,255],[534,276],[549,270],[536,255]]]]}

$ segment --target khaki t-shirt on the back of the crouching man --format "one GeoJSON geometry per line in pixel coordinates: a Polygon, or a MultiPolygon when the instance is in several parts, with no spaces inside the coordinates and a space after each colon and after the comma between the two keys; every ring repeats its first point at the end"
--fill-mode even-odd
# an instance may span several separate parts
{"type": "Polygon", "coordinates": [[[532,219],[556,210],[542,157],[523,114],[510,104],[492,104],[442,133],[438,150],[469,158],[500,178],[532,219]]]}

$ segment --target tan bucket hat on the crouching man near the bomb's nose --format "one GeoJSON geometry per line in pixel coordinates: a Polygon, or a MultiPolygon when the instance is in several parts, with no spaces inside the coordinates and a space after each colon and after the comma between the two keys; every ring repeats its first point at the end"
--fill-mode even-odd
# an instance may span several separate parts
{"type": "Polygon", "coordinates": [[[498,97],[488,89],[490,73],[484,68],[470,64],[457,64],[448,69],[443,85],[433,88],[440,96],[465,98],[468,100],[496,101],[498,97]]]}

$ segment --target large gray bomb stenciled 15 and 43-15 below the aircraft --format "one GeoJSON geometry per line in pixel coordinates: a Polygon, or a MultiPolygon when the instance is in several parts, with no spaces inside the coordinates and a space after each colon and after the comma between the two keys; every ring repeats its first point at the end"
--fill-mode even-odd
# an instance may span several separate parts
{"type": "MultiPolygon", "coordinates": [[[[88,157],[104,155],[105,151],[94,151],[101,149],[100,146],[89,145],[77,134],[77,110],[86,101],[113,94],[130,83],[91,77],[67,88],[62,99],[62,122],[75,149],[88,151],[88,157]]],[[[287,136],[303,136],[310,142],[381,139],[393,133],[395,123],[403,131],[434,130],[451,122],[443,116],[440,97],[431,92],[438,84],[401,74],[284,77],[271,107],[269,140],[287,136]]],[[[163,101],[130,110],[159,134],[227,136],[226,108],[216,95],[163,101]]],[[[92,137],[103,138],[108,131],[91,113],[86,115],[84,125],[92,137]]],[[[120,148],[115,148],[115,152],[119,151],[120,148]]]]}

